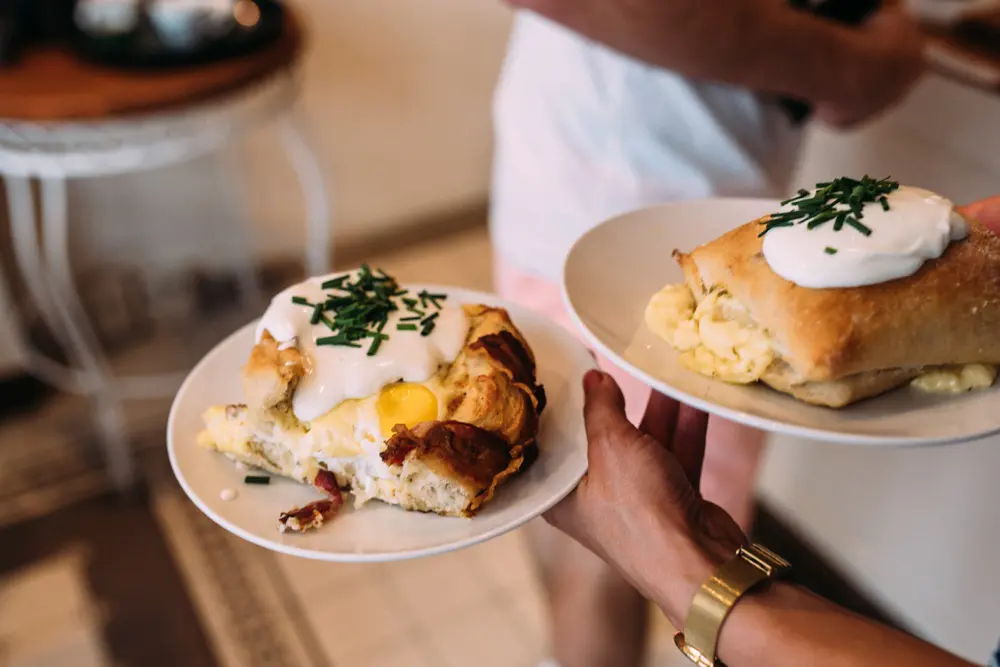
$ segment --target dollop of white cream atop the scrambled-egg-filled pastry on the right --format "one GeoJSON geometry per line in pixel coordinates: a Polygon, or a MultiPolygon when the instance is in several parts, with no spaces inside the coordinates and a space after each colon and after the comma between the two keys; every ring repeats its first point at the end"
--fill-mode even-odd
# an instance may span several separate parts
{"type": "Polygon", "coordinates": [[[868,236],[847,225],[834,231],[832,223],[775,227],[764,235],[764,258],[772,271],[801,287],[861,287],[913,275],[969,233],[954,204],[933,192],[902,186],[887,200],[888,210],[879,202],[864,205],[861,222],[871,229],[868,236]]]}

